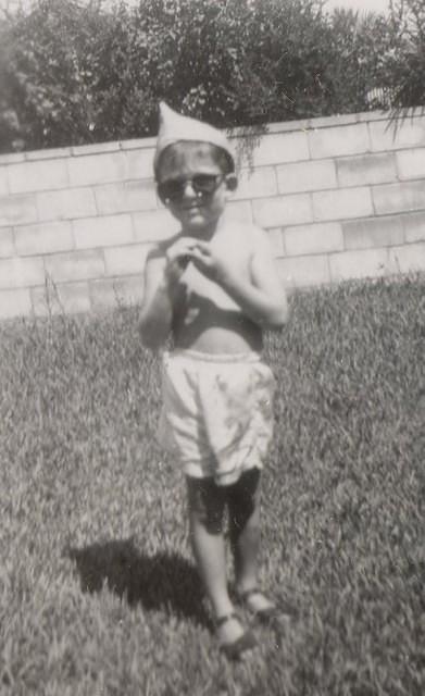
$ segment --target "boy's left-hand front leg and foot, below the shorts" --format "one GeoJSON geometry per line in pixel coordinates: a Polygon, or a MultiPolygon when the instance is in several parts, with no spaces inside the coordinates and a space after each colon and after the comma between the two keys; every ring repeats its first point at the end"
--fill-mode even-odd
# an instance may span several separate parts
{"type": "MultiPolygon", "coordinates": [[[[234,612],[228,595],[223,513],[226,490],[213,478],[187,477],[190,538],[201,580],[212,604],[215,619],[234,612]]],[[[235,618],[217,629],[222,643],[240,638],[243,626],[235,618]]]]}

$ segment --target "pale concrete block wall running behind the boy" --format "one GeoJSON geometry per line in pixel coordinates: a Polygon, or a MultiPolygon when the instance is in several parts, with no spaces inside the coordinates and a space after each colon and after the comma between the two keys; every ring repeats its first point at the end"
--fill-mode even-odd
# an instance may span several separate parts
{"type": "MultiPolygon", "coordinates": [[[[0,157],[0,318],[141,299],[149,245],[176,231],[153,148],[0,157]]],[[[424,110],[270,125],[241,160],[230,210],[268,231],[288,287],[425,270],[424,110]]]]}

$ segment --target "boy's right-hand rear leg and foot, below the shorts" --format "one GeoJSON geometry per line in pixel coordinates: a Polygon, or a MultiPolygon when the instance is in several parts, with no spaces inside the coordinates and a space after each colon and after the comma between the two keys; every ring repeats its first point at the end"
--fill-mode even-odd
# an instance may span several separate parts
{"type": "Polygon", "coordinates": [[[267,611],[274,607],[258,584],[260,551],[260,471],[250,469],[242,473],[228,489],[229,534],[235,559],[236,591],[246,595],[252,611],[267,611]]]}

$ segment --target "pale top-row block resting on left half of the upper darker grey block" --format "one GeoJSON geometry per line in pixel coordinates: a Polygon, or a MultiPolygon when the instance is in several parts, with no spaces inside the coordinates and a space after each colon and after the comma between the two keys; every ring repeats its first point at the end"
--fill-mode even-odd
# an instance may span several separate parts
{"type": "Polygon", "coordinates": [[[353,123],[332,128],[314,128],[309,132],[310,152],[313,160],[345,154],[360,154],[370,150],[367,126],[353,123]]]}

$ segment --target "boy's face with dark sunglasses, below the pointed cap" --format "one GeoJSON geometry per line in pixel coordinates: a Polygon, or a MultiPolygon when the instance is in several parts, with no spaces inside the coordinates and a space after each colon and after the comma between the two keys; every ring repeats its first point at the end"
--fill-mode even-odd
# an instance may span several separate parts
{"type": "Polygon", "coordinates": [[[236,187],[208,142],[177,142],[163,154],[157,175],[159,195],[183,229],[200,236],[214,229],[236,187]]]}

